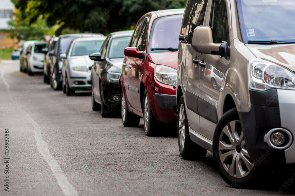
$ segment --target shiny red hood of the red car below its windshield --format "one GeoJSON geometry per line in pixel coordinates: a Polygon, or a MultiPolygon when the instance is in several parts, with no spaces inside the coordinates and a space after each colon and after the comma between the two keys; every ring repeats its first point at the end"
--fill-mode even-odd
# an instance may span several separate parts
{"type": "Polygon", "coordinates": [[[156,65],[165,65],[177,69],[178,52],[149,53],[148,61],[156,65]]]}

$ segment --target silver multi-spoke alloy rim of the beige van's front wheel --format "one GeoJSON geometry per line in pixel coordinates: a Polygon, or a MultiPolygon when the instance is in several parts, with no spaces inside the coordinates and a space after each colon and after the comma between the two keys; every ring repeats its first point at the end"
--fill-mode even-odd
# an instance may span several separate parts
{"type": "Polygon", "coordinates": [[[232,177],[246,177],[253,169],[254,161],[248,154],[239,120],[234,120],[223,128],[218,150],[223,168],[232,177]]]}

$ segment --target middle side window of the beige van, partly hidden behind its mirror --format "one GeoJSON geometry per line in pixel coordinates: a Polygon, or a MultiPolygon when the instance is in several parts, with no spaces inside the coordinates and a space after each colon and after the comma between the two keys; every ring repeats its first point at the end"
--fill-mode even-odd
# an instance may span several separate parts
{"type": "Polygon", "coordinates": [[[188,41],[191,43],[191,36],[197,26],[203,25],[204,17],[207,9],[208,0],[196,0],[194,13],[191,19],[191,26],[189,29],[188,41]]]}

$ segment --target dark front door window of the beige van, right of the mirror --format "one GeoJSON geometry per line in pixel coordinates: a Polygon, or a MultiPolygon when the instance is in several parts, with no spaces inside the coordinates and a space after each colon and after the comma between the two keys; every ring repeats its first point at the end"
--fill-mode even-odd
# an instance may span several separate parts
{"type": "Polygon", "coordinates": [[[214,43],[222,43],[223,41],[225,15],[225,0],[215,0],[211,16],[211,27],[213,28],[214,43]]]}

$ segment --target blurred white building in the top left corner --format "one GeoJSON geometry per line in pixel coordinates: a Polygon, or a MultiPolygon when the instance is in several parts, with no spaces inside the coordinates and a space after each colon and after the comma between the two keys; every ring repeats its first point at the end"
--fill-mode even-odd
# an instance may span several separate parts
{"type": "Polygon", "coordinates": [[[0,29],[9,29],[7,24],[12,19],[14,4],[10,0],[0,0],[0,29]]]}

